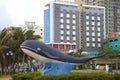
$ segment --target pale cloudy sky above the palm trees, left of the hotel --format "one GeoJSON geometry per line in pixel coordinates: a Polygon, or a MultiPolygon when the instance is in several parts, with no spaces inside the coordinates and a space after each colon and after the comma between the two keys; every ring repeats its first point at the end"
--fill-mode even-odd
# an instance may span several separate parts
{"type": "Polygon", "coordinates": [[[35,21],[43,26],[45,4],[53,0],[0,0],[0,29],[35,21]]]}

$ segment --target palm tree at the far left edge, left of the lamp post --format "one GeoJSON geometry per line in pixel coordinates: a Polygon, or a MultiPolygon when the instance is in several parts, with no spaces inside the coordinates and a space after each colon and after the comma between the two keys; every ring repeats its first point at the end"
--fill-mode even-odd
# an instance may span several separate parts
{"type": "Polygon", "coordinates": [[[6,52],[9,49],[9,46],[7,43],[11,39],[11,34],[8,34],[7,29],[3,29],[0,32],[0,63],[1,63],[1,69],[3,73],[3,68],[8,64],[6,60],[6,52]]]}

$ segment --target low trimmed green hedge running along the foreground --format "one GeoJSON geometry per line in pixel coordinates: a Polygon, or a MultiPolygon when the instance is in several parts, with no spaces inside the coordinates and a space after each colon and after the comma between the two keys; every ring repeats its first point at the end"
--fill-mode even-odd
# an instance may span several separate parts
{"type": "Polygon", "coordinates": [[[41,73],[17,73],[14,74],[13,80],[120,80],[120,74],[114,73],[79,73],[71,72],[70,74],[61,75],[41,75],[41,73]]]}

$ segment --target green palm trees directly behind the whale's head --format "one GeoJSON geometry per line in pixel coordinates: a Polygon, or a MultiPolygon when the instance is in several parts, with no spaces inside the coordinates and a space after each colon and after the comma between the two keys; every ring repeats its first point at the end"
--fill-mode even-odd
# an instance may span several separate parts
{"type": "Polygon", "coordinates": [[[41,37],[39,35],[34,35],[34,31],[32,30],[23,31],[21,28],[14,28],[11,32],[12,39],[9,41],[9,47],[13,53],[15,53],[13,56],[13,63],[18,63],[22,60],[26,62],[28,60],[31,61],[32,59],[21,51],[20,44],[25,40],[37,40],[41,37]]]}

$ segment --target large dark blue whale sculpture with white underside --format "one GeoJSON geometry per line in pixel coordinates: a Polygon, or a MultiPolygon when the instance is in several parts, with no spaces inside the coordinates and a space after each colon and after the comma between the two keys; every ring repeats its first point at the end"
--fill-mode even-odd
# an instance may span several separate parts
{"type": "MultiPolygon", "coordinates": [[[[89,60],[92,60],[94,58],[99,58],[99,57],[102,57],[105,55],[105,54],[103,54],[100,56],[86,56],[86,57],[78,58],[78,57],[63,54],[59,50],[57,50],[55,48],[51,48],[50,46],[44,44],[43,42],[37,41],[37,40],[26,40],[20,45],[20,47],[23,50],[23,52],[26,53],[27,55],[29,55],[37,60],[40,60],[43,63],[51,63],[51,64],[54,64],[54,63],[61,64],[62,62],[63,63],[64,62],[72,63],[72,64],[81,64],[81,63],[85,63],[89,60]]],[[[52,68],[52,66],[51,66],[51,69],[56,69],[56,68],[52,68]]],[[[71,70],[71,69],[69,69],[69,70],[71,70]]],[[[50,71],[52,71],[52,70],[50,70],[50,71]]],[[[62,70],[62,71],[65,72],[65,70],[62,70]]],[[[68,71],[68,73],[69,73],[69,71],[68,71]]],[[[58,74],[59,74],[59,72],[58,72],[58,74]]]]}

